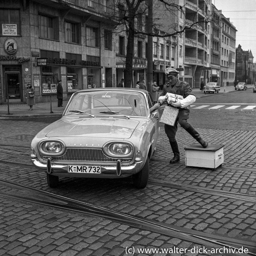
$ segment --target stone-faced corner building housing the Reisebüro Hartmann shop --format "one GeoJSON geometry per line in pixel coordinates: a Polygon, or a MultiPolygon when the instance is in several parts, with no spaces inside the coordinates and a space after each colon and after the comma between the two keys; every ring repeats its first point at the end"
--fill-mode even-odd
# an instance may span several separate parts
{"type": "Polygon", "coordinates": [[[1,1],[0,104],[26,102],[28,83],[36,102],[55,97],[60,79],[64,98],[93,85],[115,86],[110,2],[1,1]]]}

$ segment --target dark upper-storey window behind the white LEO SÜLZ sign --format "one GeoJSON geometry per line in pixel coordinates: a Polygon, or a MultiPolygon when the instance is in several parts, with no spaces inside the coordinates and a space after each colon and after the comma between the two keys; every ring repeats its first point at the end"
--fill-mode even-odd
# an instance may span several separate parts
{"type": "Polygon", "coordinates": [[[20,36],[20,11],[0,9],[0,35],[3,36],[2,24],[16,24],[17,35],[20,36]]]}

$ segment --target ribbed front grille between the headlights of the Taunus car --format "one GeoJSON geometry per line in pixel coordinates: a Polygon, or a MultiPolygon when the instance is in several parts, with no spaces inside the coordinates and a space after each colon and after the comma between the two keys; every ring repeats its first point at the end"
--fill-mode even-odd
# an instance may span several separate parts
{"type": "Polygon", "coordinates": [[[117,159],[121,162],[130,162],[132,158],[112,158],[105,155],[101,148],[67,148],[62,156],[42,156],[44,160],[49,157],[55,161],[83,161],[83,162],[108,162],[116,163],[117,159]]]}

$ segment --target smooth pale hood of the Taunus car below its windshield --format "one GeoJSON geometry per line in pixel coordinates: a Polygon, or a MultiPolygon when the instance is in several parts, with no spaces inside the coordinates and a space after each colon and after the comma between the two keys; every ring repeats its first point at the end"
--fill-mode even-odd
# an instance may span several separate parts
{"type": "Polygon", "coordinates": [[[48,126],[46,137],[104,137],[128,139],[140,121],[117,118],[83,118],[60,120],[48,126]]]}

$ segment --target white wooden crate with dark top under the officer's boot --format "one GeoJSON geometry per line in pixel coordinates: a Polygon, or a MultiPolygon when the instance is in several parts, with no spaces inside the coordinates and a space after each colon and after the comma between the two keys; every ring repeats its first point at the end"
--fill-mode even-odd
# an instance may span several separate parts
{"type": "Polygon", "coordinates": [[[199,143],[185,147],[186,166],[216,169],[224,162],[224,145],[209,144],[203,148],[199,143]]]}

